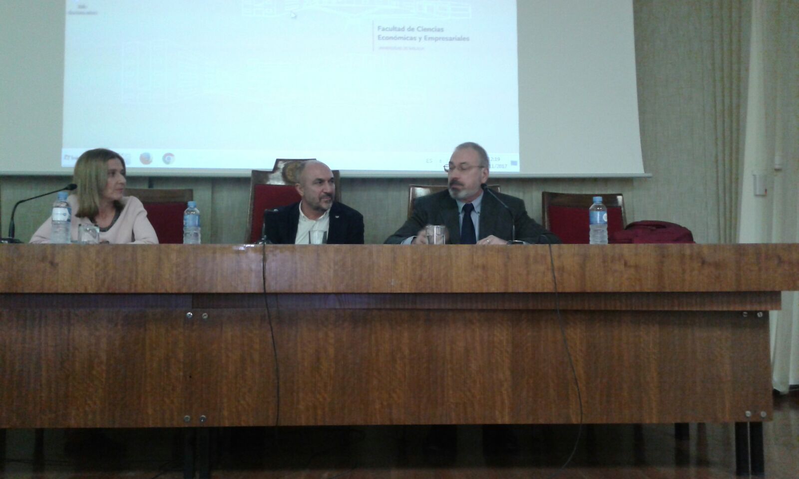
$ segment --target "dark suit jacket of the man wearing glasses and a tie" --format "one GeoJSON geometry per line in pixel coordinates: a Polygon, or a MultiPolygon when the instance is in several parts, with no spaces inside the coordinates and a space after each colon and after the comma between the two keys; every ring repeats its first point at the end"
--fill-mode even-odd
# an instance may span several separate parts
{"type": "MultiPolygon", "coordinates": [[[[524,201],[515,196],[496,193],[503,200],[511,212],[508,212],[491,193],[483,192],[483,202],[480,207],[479,238],[494,235],[497,238],[511,239],[512,225],[516,225],[516,239],[527,243],[560,243],[558,236],[548,232],[540,224],[527,216],[524,201]],[[511,222],[511,213],[513,220],[511,222]]],[[[449,196],[449,192],[433,193],[422,196],[413,204],[413,215],[392,236],[386,239],[388,244],[402,243],[403,239],[416,236],[420,229],[427,224],[443,224],[449,230],[447,243],[460,242],[460,220],[458,204],[449,196]]]]}

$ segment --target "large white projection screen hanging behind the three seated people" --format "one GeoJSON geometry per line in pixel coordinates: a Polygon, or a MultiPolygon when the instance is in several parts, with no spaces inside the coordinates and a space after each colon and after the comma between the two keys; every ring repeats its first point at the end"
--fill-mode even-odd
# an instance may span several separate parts
{"type": "Polygon", "coordinates": [[[318,158],[427,176],[476,141],[492,176],[644,173],[631,0],[66,0],[62,14],[62,131],[42,131],[61,152],[2,172],[68,173],[102,146],[141,174],[318,158]]]}

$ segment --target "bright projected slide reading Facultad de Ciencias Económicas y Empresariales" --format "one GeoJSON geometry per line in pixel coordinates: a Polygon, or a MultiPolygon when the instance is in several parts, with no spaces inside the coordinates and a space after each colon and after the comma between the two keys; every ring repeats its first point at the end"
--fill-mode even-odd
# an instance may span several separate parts
{"type": "Polygon", "coordinates": [[[515,0],[67,0],[62,166],[519,172],[515,0]]]}

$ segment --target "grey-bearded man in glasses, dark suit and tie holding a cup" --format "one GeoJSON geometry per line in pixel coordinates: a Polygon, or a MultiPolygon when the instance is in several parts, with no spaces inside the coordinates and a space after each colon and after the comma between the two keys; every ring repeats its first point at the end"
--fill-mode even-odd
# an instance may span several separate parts
{"type": "Polygon", "coordinates": [[[488,154],[482,146],[459,144],[444,167],[447,191],[416,200],[411,218],[386,243],[425,244],[428,224],[446,226],[447,243],[453,244],[560,243],[527,216],[523,200],[484,189],[488,169],[488,154]]]}

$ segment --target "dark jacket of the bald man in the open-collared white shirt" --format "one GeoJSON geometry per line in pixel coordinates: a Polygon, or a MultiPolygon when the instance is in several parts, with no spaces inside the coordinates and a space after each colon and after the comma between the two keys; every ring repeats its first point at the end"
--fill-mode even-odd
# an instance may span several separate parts
{"type": "MultiPolygon", "coordinates": [[[[276,244],[294,244],[300,224],[300,202],[264,212],[266,237],[276,244]]],[[[364,244],[364,216],[346,204],[330,207],[328,244],[364,244]]]]}

